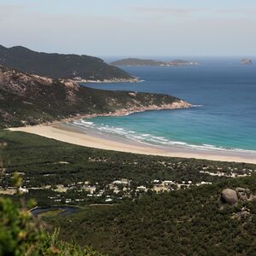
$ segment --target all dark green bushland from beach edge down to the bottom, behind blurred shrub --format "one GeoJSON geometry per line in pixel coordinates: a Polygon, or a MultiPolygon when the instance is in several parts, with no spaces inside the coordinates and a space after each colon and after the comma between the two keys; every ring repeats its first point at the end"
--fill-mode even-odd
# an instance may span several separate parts
{"type": "MultiPolygon", "coordinates": [[[[19,171],[23,187],[29,190],[24,196],[36,198],[39,206],[63,204],[67,198],[73,201],[66,204],[83,205],[67,215],[60,211],[42,214],[50,233],[60,228],[63,242],[57,240],[61,245],[55,246],[59,250],[76,241],[81,247],[90,245],[108,255],[255,255],[255,201],[240,200],[234,207],[220,201],[225,188],[242,187],[255,195],[254,165],[125,154],[22,132],[1,131],[0,137],[8,144],[2,152],[6,166],[3,189],[11,185],[10,177],[19,171]],[[218,172],[224,175],[211,174],[218,172]],[[231,173],[248,176],[232,178],[231,173]],[[131,193],[123,200],[107,191],[106,195],[113,198],[109,205],[100,198],[87,199],[79,184],[90,181],[100,190],[121,178],[131,180],[131,190],[137,185],[150,188],[154,179],[191,181],[194,185],[159,194],[149,189],[147,193],[131,193]],[[212,184],[197,187],[195,184],[201,181],[212,184]],[[57,192],[54,188],[58,184],[70,189],[57,192]],[[61,201],[54,201],[52,198],[58,195],[61,201]],[[75,201],[78,198],[86,200],[75,201]]],[[[11,196],[19,202],[17,195],[11,196]]],[[[49,242],[53,239],[47,237],[47,242],[41,243],[45,248],[52,247],[49,242]]]]}

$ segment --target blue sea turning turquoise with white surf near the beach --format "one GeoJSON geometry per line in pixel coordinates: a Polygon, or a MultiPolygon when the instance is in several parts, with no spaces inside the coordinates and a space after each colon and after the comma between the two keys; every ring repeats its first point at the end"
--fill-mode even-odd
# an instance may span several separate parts
{"type": "Polygon", "coordinates": [[[84,85],[164,93],[200,107],[97,117],[77,125],[143,143],[256,150],[256,60],[251,66],[242,66],[239,58],[195,61],[201,65],[121,67],[142,79],[140,83],[84,85]]]}

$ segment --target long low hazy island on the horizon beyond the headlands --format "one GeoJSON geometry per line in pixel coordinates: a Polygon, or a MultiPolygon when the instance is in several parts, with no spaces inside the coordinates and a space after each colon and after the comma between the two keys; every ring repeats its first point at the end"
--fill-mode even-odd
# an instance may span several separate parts
{"type": "Polygon", "coordinates": [[[156,67],[183,67],[183,66],[195,66],[198,65],[195,61],[155,61],[155,60],[143,60],[137,58],[128,58],[119,61],[113,61],[110,63],[113,66],[156,66],[156,67]]]}

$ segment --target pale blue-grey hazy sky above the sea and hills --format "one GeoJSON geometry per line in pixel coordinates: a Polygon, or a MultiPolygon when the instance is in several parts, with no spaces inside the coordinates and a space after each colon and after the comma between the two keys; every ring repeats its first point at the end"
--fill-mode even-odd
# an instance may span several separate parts
{"type": "Polygon", "coordinates": [[[96,56],[256,55],[256,0],[0,0],[0,44],[96,56]]]}

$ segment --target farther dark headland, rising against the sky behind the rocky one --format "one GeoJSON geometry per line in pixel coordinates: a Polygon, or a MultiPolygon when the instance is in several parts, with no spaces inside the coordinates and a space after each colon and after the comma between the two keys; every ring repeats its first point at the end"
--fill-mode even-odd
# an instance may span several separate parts
{"type": "Polygon", "coordinates": [[[136,80],[125,71],[109,66],[96,57],[48,54],[22,46],[6,48],[0,45],[0,65],[51,79],[136,80]]]}

